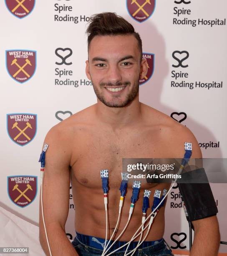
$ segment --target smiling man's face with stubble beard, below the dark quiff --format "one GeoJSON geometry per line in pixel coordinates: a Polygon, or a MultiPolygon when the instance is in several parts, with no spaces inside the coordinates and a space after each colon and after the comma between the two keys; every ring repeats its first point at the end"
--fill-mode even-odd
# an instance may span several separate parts
{"type": "MultiPolygon", "coordinates": [[[[108,107],[124,107],[139,91],[141,61],[133,35],[95,36],[89,46],[86,74],[98,99],[108,107]]],[[[144,61],[144,60],[143,60],[144,61]]]]}

